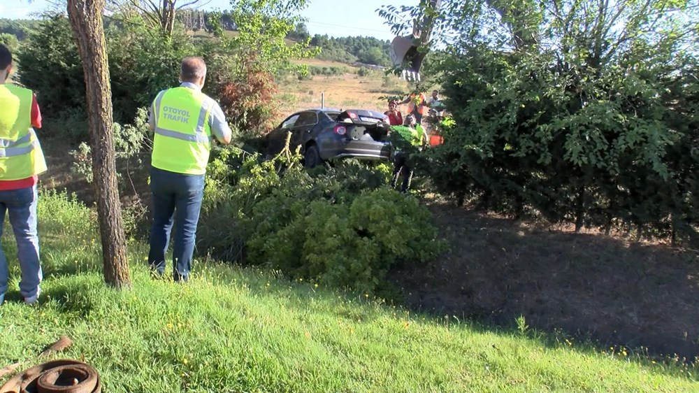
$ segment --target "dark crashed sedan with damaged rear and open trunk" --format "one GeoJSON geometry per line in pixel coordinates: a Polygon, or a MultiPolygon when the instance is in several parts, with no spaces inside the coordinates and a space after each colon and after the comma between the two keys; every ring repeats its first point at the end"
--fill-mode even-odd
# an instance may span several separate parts
{"type": "Polygon", "coordinates": [[[304,165],[312,168],[329,159],[388,160],[391,144],[385,141],[389,124],[372,110],[310,109],[294,113],[267,135],[267,153],[284,148],[289,131],[291,150],[301,146],[304,165]]]}

